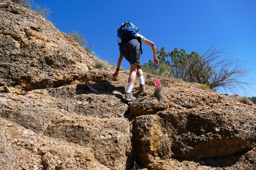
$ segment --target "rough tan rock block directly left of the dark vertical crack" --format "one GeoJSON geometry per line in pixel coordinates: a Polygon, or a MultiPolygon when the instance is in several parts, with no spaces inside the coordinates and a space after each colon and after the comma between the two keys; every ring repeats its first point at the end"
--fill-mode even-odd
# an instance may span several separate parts
{"type": "Polygon", "coordinates": [[[127,161],[126,146],[130,142],[129,126],[120,122],[120,119],[118,121],[107,118],[101,121],[104,122],[99,124],[97,120],[88,118],[79,121],[56,120],[53,125],[48,126],[45,133],[93,148],[95,158],[102,164],[116,170],[125,169],[123,162],[127,161]]]}

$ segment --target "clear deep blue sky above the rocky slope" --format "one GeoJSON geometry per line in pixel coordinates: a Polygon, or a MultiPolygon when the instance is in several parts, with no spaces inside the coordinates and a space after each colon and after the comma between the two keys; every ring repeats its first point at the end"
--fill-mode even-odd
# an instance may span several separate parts
{"type": "MultiPolygon", "coordinates": [[[[166,52],[184,48],[186,53],[199,50],[202,55],[215,42],[225,48],[226,56],[248,61],[247,68],[256,68],[256,1],[255,0],[177,0],[177,1],[84,1],[34,0],[45,4],[52,13],[49,20],[62,32],[83,33],[93,50],[102,59],[119,58],[116,29],[125,21],[134,23],[141,35],[166,52]]],[[[153,60],[151,48],[143,44],[141,63],[153,60]]],[[[123,59],[125,69],[130,67],[123,59]]],[[[256,83],[256,70],[249,78],[256,83]]],[[[246,80],[245,80],[246,81],[246,80]]],[[[249,97],[256,96],[256,85],[249,97]]],[[[243,92],[240,92],[240,96],[243,92]]]]}

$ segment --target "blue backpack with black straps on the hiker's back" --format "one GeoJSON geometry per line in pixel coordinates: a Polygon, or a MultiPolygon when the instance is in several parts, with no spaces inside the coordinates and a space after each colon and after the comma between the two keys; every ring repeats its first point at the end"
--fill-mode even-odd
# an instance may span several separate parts
{"type": "Polygon", "coordinates": [[[117,37],[121,38],[121,42],[118,43],[120,54],[123,55],[122,52],[122,42],[132,39],[137,39],[140,43],[140,54],[142,54],[142,40],[140,36],[138,36],[137,32],[139,31],[139,28],[135,26],[135,24],[132,24],[130,21],[127,21],[122,24],[122,26],[117,30],[117,37]]]}

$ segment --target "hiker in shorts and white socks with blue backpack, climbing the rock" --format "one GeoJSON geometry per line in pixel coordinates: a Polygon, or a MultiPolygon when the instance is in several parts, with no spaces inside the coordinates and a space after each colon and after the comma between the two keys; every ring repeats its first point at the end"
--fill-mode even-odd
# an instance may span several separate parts
{"type": "Polygon", "coordinates": [[[119,68],[124,57],[131,66],[124,100],[132,101],[136,99],[132,96],[132,87],[134,85],[136,75],[140,82],[139,92],[145,92],[146,88],[140,63],[140,54],[142,54],[142,42],[151,47],[153,51],[154,64],[157,66],[159,61],[156,57],[156,46],[152,41],[147,40],[145,37],[137,33],[138,28],[129,21],[125,22],[117,30],[117,36],[121,38],[122,42],[119,42],[118,44],[120,46],[120,56],[117,62],[116,72],[113,74],[113,77],[116,78],[118,76],[119,68]]]}

